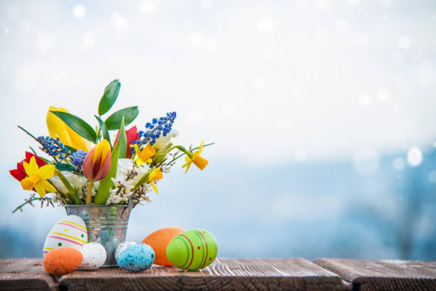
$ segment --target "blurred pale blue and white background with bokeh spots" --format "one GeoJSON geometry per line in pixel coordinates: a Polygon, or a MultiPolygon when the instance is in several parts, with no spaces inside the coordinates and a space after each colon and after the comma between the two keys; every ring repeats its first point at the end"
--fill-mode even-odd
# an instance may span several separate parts
{"type": "MultiPolygon", "coordinates": [[[[436,260],[434,1],[2,1],[0,257],[41,257],[63,208],[8,171],[48,106],[103,88],[210,163],[160,181],[128,239],[204,228],[220,256],[436,260]]],[[[94,123],[93,123],[94,124],[94,123]]]]}

